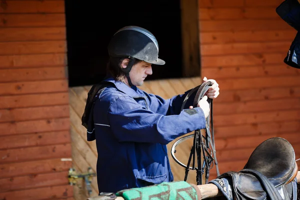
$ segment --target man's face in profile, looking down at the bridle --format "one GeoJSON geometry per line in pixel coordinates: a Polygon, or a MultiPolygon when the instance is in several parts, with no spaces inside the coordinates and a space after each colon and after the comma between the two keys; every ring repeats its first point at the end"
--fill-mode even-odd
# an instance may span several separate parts
{"type": "Polygon", "coordinates": [[[135,86],[141,86],[147,75],[152,74],[151,64],[145,61],[140,61],[134,64],[129,72],[131,83],[135,86]]]}

